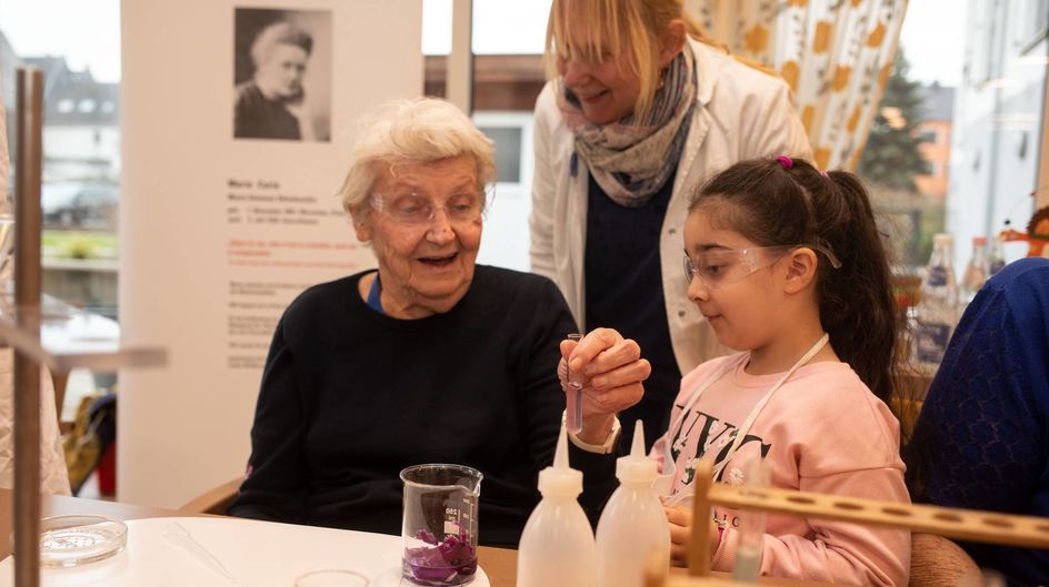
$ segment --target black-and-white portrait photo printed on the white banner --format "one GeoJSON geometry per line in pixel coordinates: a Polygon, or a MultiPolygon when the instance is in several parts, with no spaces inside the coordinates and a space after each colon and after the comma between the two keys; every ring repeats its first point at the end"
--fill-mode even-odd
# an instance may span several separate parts
{"type": "Polygon", "coordinates": [[[331,12],[236,8],[233,138],[328,141],[331,12]]]}

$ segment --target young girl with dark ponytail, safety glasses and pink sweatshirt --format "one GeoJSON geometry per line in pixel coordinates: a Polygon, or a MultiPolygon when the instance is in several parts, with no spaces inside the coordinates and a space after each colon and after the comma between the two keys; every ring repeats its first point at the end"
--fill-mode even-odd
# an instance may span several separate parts
{"type": "MultiPolygon", "coordinates": [[[[693,196],[685,223],[688,296],[726,346],[681,382],[657,442],[672,555],[683,560],[695,465],[746,483],[763,458],[770,486],[909,502],[893,394],[898,330],[889,263],[867,191],[786,155],[737,163],[693,196]]],[[[712,567],[731,570],[739,514],[718,507],[712,567]]],[[[907,532],[769,516],[762,575],[905,586],[907,532]]]]}

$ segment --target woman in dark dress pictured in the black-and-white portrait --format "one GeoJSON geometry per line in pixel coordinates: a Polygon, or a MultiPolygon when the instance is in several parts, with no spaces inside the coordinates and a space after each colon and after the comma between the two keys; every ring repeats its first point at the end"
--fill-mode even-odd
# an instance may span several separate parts
{"type": "Polygon", "coordinates": [[[254,73],[237,87],[233,136],[238,139],[316,140],[306,108],[306,78],[313,38],[301,27],[274,22],[251,43],[254,73]]]}

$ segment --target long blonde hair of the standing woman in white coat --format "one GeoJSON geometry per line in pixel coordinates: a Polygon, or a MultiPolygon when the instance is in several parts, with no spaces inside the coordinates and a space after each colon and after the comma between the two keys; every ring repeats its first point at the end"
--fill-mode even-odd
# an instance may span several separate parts
{"type": "MultiPolygon", "coordinates": [[[[731,54],[728,45],[703,32],[685,11],[682,0],[553,0],[547,21],[547,74],[557,77],[558,58],[597,63],[627,51],[628,67],[638,77],[641,90],[633,109],[636,119],[641,120],[652,108],[659,89],[660,37],[673,20],[681,20],[692,39],[731,54]],[[588,26],[573,31],[569,27],[572,21],[588,26]]],[[[776,75],[756,61],[733,57],[746,65],[776,75]]]]}

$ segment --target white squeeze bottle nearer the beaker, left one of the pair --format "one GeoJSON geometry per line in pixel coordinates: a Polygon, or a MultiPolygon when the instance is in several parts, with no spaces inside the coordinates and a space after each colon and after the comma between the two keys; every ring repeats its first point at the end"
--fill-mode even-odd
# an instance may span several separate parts
{"type": "Polygon", "coordinates": [[[563,425],[553,466],[539,472],[539,493],[542,500],[528,517],[518,547],[518,587],[597,587],[593,530],[576,500],[582,493],[582,473],[568,466],[563,425]]]}

